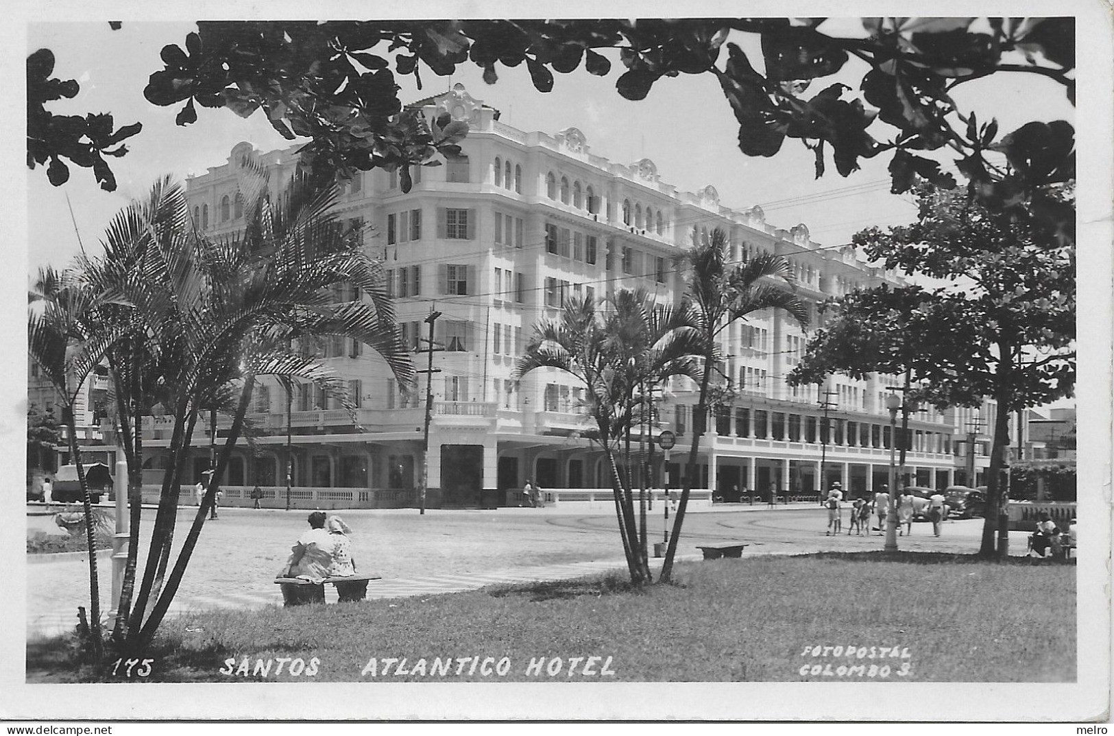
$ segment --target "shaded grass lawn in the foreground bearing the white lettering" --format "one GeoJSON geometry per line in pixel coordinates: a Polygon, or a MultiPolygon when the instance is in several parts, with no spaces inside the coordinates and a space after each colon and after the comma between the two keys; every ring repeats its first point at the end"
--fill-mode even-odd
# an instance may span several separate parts
{"type": "MultiPolygon", "coordinates": [[[[1074,565],[848,552],[683,563],[643,590],[624,577],[182,616],[145,655],[147,679],[869,681],[883,666],[899,681],[1075,679],[1074,565]]],[[[75,668],[72,650],[30,642],[28,681],[126,679],[75,668]]]]}

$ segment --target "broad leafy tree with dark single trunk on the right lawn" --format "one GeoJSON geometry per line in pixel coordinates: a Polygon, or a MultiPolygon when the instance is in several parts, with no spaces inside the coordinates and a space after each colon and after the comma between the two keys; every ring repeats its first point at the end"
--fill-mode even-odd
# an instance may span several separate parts
{"type": "MultiPolygon", "coordinates": [[[[994,552],[1004,503],[1009,414],[1072,395],[1075,253],[1038,218],[1017,219],[958,192],[920,184],[919,219],[854,244],[886,268],[948,282],[853,292],[809,342],[792,384],[829,373],[910,371],[912,399],[941,409],[997,403],[981,555],[994,552]]],[[[1071,198],[1071,189],[1057,193],[1071,198]]]]}

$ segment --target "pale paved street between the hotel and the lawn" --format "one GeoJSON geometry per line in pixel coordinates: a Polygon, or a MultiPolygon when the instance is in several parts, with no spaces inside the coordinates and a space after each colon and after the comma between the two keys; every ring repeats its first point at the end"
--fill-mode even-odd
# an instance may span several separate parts
{"type": "MultiPolygon", "coordinates": [[[[180,509],[175,555],[195,510],[180,509]]],[[[361,572],[382,580],[369,598],[436,595],[492,582],[570,578],[625,567],[614,511],[565,509],[438,510],[414,509],[338,512],[352,527],[353,555],[361,572]]],[[[846,516],[846,512],[844,512],[846,516]]],[[[275,573],[297,536],[307,528],[305,511],[222,509],[207,521],[182,581],[172,612],[207,607],[253,608],[280,605],[275,573]]],[[[29,529],[47,528],[50,517],[29,517],[29,529]]],[[[144,530],[154,511],[144,511],[144,530]]],[[[672,519],[671,519],[672,521],[672,519]]],[[[661,541],[661,506],[647,514],[649,541],[661,541]]],[[[813,504],[768,510],[764,506],[726,504],[686,516],[681,559],[700,559],[696,544],[747,542],[747,557],[821,550],[881,549],[882,537],[825,537],[827,511],[813,504]]],[[[981,519],[947,522],[944,536],[928,523],[899,539],[901,549],[971,552],[978,548],[981,519]]],[[[1024,532],[1012,533],[1010,550],[1024,553],[1024,532]]],[[[145,563],[140,540],[140,571],[145,563]]],[[[101,609],[109,608],[111,565],[101,557],[101,609]]],[[[659,563],[659,560],[657,561],[659,563]]],[[[84,558],[26,567],[29,637],[70,628],[77,607],[88,606],[88,562],[84,558]]],[[[328,595],[335,597],[329,586],[328,595]]]]}

